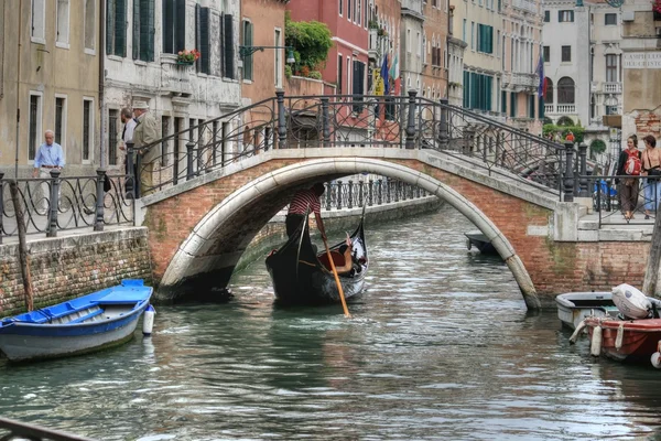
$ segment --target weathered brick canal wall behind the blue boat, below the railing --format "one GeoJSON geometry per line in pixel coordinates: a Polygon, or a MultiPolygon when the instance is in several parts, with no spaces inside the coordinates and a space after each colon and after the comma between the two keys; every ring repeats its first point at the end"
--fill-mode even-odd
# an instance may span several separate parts
{"type": "MultiPolygon", "coordinates": [[[[34,308],[143,278],[151,283],[148,230],[130,228],[28,244],[34,308]]],[[[18,244],[0,245],[0,316],[24,312],[18,244]]]]}

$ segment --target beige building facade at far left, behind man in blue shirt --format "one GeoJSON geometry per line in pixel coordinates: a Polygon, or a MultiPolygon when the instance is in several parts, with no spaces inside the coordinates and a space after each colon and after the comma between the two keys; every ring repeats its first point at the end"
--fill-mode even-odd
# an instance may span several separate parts
{"type": "Polygon", "coordinates": [[[95,0],[0,0],[0,163],[6,178],[14,175],[17,163],[19,175],[29,175],[45,130],[53,130],[63,147],[63,176],[94,174],[100,162],[100,13],[95,0]]]}

